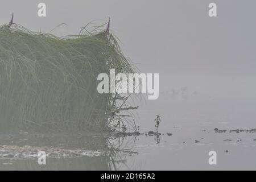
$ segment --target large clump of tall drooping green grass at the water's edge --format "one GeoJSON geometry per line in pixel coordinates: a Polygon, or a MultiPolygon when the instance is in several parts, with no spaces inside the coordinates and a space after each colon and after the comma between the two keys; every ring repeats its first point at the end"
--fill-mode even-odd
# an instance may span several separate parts
{"type": "Polygon", "coordinates": [[[127,97],[97,92],[98,74],[134,72],[108,28],[59,38],[1,26],[0,131],[125,131],[127,97]]]}

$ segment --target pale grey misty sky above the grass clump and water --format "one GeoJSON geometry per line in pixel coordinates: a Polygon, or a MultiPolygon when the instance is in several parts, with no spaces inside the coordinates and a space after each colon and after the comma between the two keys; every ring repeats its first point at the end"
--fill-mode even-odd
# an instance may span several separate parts
{"type": "Polygon", "coordinates": [[[256,1],[235,0],[2,0],[0,22],[57,35],[77,34],[94,20],[111,18],[126,56],[142,72],[163,75],[255,75],[256,1]],[[38,3],[47,17],[37,15],[38,3]],[[217,17],[208,16],[210,2],[217,17]]]}

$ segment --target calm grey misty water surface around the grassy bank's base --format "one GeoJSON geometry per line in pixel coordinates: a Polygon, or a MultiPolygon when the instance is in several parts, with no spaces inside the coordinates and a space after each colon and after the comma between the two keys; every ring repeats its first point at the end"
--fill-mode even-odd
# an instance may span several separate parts
{"type": "Polygon", "coordinates": [[[154,131],[155,115],[161,116],[159,132],[164,135],[159,138],[88,135],[2,141],[1,144],[20,147],[60,147],[73,153],[72,150],[82,148],[100,153],[47,157],[46,165],[39,165],[33,157],[2,157],[0,169],[256,169],[256,133],[214,132],[215,127],[256,129],[256,89],[251,84],[255,82],[254,77],[163,76],[160,79],[159,99],[144,100],[136,114],[141,133],[154,131]],[[217,152],[217,165],[208,164],[208,152],[212,150],[217,152]]]}

